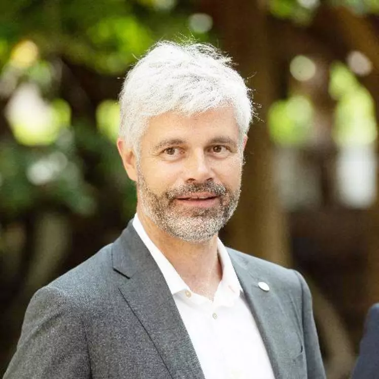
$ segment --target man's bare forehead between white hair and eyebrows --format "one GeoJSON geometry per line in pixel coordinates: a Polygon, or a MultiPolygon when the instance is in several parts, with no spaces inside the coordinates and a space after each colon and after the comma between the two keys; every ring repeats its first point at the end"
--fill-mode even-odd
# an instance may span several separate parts
{"type": "Polygon", "coordinates": [[[152,117],[142,142],[155,143],[168,138],[206,140],[215,135],[238,139],[238,126],[231,107],[212,109],[194,115],[166,112],[152,117]]]}

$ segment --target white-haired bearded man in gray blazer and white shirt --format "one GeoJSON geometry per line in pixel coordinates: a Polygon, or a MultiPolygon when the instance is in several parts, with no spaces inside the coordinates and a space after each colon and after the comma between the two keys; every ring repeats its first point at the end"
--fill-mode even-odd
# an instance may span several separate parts
{"type": "Polygon", "coordinates": [[[237,205],[252,112],[229,59],[159,43],[120,104],[136,215],[33,296],[5,378],[324,378],[300,274],[217,237],[237,205]]]}

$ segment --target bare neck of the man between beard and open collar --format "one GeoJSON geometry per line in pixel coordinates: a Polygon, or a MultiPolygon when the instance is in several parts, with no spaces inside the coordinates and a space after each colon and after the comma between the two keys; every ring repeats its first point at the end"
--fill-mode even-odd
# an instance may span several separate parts
{"type": "Polygon", "coordinates": [[[160,229],[139,208],[137,214],[149,238],[174,266],[191,291],[213,299],[222,278],[217,254],[217,235],[199,243],[188,242],[160,229]]]}

